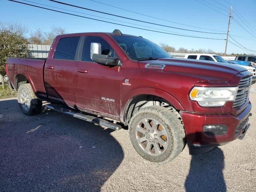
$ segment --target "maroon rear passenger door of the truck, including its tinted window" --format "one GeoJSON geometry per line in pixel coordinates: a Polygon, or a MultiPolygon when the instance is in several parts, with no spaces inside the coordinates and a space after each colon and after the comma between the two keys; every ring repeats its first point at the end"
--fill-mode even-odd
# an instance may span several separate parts
{"type": "MultiPolygon", "coordinates": [[[[65,37],[58,40],[44,69],[44,83],[51,102],[62,102],[73,107],[75,102],[75,68],[80,37],[65,37]]],[[[55,42],[56,43],[56,42],[55,42]]]]}

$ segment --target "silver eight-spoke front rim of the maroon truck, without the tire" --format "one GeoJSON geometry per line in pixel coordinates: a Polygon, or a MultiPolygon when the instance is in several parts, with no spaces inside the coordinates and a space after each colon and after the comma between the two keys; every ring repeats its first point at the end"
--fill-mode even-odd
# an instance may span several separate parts
{"type": "Polygon", "coordinates": [[[155,119],[140,120],[135,129],[135,137],[140,148],[151,156],[163,154],[168,147],[166,129],[155,119]]]}

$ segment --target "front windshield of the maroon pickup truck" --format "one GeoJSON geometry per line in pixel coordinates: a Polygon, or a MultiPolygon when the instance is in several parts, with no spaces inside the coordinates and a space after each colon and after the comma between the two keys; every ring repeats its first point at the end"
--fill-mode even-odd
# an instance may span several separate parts
{"type": "Polygon", "coordinates": [[[154,60],[172,56],[150,40],[134,36],[112,36],[132,60],[154,60]]]}

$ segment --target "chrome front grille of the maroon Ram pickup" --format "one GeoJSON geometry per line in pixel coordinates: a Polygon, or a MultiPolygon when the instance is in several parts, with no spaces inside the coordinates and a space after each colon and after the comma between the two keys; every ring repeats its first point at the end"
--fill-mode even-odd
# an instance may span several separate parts
{"type": "Polygon", "coordinates": [[[244,77],[240,80],[238,85],[238,91],[236,94],[236,99],[233,103],[233,107],[240,107],[242,104],[246,103],[249,98],[250,89],[246,90],[247,87],[252,85],[252,76],[244,77]]]}

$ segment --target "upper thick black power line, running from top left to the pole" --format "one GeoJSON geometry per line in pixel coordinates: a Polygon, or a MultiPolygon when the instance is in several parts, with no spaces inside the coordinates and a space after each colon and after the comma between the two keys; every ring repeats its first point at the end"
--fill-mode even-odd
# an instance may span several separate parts
{"type": "Polygon", "coordinates": [[[169,27],[169,28],[186,30],[186,31],[193,31],[193,32],[200,32],[200,33],[208,33],[208,34],[226,34],[226,33],[203,32],[203,31],[196,31],[196,30],[189,30],[189,29],[184,29],[184,28],[177,28],[177,27],[172,27],[172,26],[166,26],[166,25],[156,24],[156,23],[152,23],[152,22],[147,22],[147,21],[137,20],[137,19],[133,19],[133,18],[128,18],[128,17],[124,17],[124,16],[119,16],[119,15],[115,15],[115,14],[110,14],[110,13],[106,13],[106,12],[102,12],[102,11],[97,11],[97,10],[93,10],[93,9],[89,9],[89,8],[85,8],[85,7],[80,7],[80,6],[76,6],[76,5],[72,5],[72,4],[68,4],[68,3],[64,3],[64,2],[59,2],[59,1],[56,1],[56,0],[49,0],[49,1],[56,2],[56,3],[59,3],[59,4],[63,4],[63,5],[72,6],[72,7],[76,7],[76,8],[81,8],[81,9],[85,9],[85,10],[89,10],[89,11],[94,11],[94,12],[98,12],[98,13],[102,13],[102,14],[116,16],[116,17],[120,17],[120,18],[124,18],[124,19],[130,19],[130,20],[144,22],[144,23],[148,23],[148,24],[163,26],[163,27],[169,27]]]}

